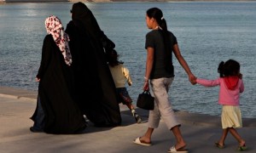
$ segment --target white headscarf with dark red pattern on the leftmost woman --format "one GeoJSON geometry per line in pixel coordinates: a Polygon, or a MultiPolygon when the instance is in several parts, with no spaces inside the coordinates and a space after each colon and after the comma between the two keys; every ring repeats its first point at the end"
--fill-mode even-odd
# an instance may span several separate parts
{"type": "Polygon", "coordinates": [[[47,33],[54,38],[56,45],[60,48],[61,54],[67,65],[72,64],[72,55],[70,53],[68,42],[69,37],[64,31],[61,20],[55,15],[51,15],[45,20],[45,28],[47,33]]]}

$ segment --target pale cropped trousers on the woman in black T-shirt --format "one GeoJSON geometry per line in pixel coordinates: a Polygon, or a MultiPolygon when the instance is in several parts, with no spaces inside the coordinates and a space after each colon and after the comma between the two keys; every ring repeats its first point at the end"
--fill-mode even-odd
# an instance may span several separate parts
{"type": "Polygon", "coordinates": [[[172,105],[168,99],[168,90],[172,84],[173,77],[158,78],[150,81],[152,91],[154,93],[154,110],[149,111],[148,127],[159,127],[160,117],[166,122],[169,130],[172,127],[179,126],[177,118],[172,110],[172,105]]]}

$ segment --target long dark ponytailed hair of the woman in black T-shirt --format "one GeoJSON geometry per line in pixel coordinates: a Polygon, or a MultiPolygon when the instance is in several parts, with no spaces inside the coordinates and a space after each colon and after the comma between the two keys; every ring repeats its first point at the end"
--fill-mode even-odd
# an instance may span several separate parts
{"type": "Polygon", "coordinates": [[[166,49],[166,62],[172,61],[172,46],[171,46],[171,37],[169,31],[167,30],[166,20],[160,8],[149,8],[147,10],[148,18],[154,18],[158,25],[160,26],[159,31],[162,33],[164,45],[166,49]]]}

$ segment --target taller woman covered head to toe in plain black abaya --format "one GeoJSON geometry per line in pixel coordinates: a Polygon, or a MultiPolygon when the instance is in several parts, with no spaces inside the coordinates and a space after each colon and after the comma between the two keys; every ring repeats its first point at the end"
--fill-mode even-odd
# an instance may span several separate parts
{"type": "Polygon", "coordinates": [[[66,32],[70,37],[75,77],[75,99],[96,127],[121,123],[119,103],[105,52],[115,47],[84,3],[74,3],[66,32]]]}

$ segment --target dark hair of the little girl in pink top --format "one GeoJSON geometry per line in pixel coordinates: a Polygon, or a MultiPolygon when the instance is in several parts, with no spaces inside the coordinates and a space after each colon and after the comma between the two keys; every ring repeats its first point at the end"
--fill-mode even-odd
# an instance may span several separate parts
{"type": "Polygon", "coordinates": [[[219,77],[238,76],[240,64],[234,59],[229,59],[226,62],[222,61],[218,65],[218,73],[219,77]]]}

